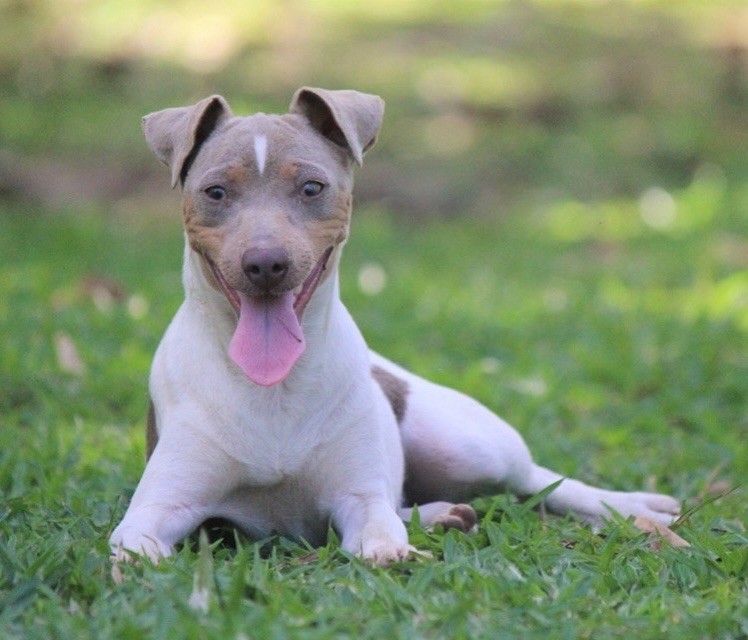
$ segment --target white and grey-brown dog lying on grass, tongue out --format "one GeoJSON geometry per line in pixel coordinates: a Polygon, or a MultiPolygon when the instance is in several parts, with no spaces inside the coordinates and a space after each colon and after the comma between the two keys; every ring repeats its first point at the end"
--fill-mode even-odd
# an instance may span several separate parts
{"type": "Polygon", "coordinates": [[[147,464],[112,533],[115,561],[169,556],[210,518],[386,565],[404,522],[469,530],[471,499],[556,485],[548,511],[664,523],[666,495],[588,486],[536,465],[487,408],[371,352],[340,300],[353,170],[381,98],[302,87],[289,113],[235,117],[211,96],[145,116],[183,191],[185,300],[154,357],[147,464]]]}

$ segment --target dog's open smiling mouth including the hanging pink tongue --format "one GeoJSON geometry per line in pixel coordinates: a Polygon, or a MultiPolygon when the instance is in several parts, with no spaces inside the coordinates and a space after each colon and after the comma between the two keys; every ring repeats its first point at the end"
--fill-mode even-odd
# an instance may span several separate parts
{"type": "Polygon", "coordinates": [[[238,316],[229,356],[252,382],[265,387],[282,382],[304,353],[301,317],[332,251],[333,247],[325,250],[300,287],[277,295],[248,295],[232,288],[216,264],[204,256],[238,316]]]}

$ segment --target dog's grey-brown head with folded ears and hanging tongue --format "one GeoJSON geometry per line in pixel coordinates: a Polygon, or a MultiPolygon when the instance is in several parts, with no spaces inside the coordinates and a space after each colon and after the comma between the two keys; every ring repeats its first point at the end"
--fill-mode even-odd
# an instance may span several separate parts
{"type": "Polygon", "coordinates": [[[301,315],[348,236],[353,166],[383,112],[377,96],[304,87],[280,116],[235,117],[211,96],[143,119],[182,185],[190,246],[238,314],[230,353],[258,384],[283,380],[304,350],[301,315]]]}

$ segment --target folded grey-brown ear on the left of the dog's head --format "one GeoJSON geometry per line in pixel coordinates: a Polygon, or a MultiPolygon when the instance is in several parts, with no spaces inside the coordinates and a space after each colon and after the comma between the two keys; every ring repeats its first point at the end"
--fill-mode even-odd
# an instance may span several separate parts
{"type": "Polygon", "coordinates": [[[148,145],[171,169],[172,189],[178,182],[184,184],[200,146],[231,115],[231,108],[222,96],[210,96],[191,107],[164,109],[143,118],[148,145]]]}

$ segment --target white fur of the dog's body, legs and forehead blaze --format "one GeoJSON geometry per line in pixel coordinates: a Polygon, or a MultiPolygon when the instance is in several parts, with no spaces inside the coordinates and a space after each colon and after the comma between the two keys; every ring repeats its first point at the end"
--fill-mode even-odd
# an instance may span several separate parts
{"type": "MultiPolygon", "coordinates": [[[[266,154],[269,162],[279,153],[265,145],[255,148],[260,169],[266,154]]],[[[419,505],[425,524],[481,493],[530,495],[561,480],[534,464],[519,434],[478,402],[371,353],[340,301],[339,259],[336,249],[305,311],[304,356],[282,383],[262,387],[228,358],[236,316],[187,243],[185,301],[150,377],[158,446],[111,536],[115,558],[168,556],[201,522],[223,517],[251,536],[275,530],[312,544],[324,541],[331,523],[345,550],[386,564],[412,551],[403,524],[406,457],[409,479],[439,500],[419,505]],[[407,384],[400,425],[372,364],[407,384]]],[[[664,522],[678,513],[667,496],[571,479],[545,502],[590,521],[609,509],[664,522]]]]}

